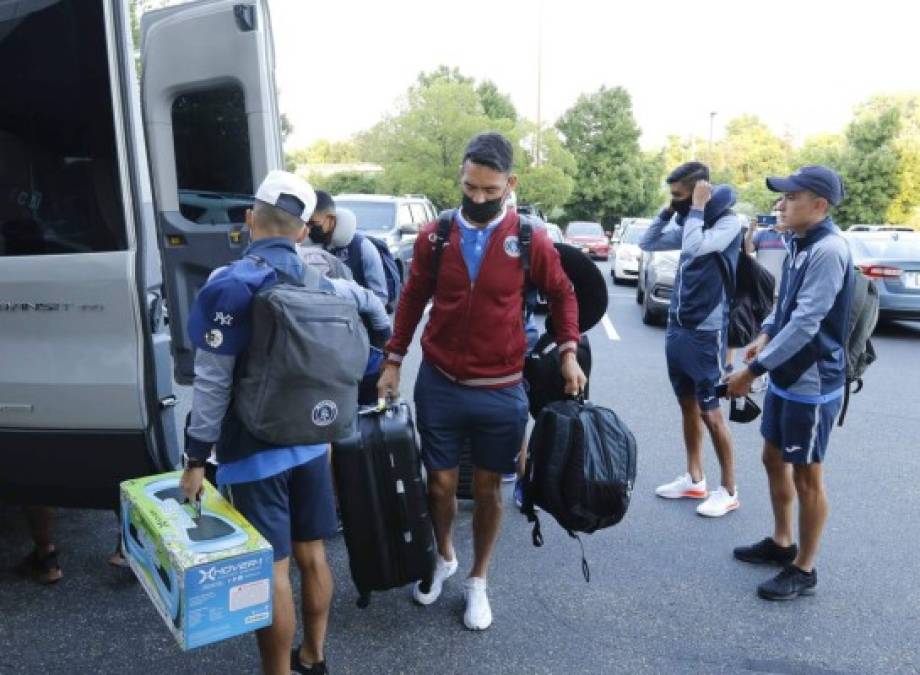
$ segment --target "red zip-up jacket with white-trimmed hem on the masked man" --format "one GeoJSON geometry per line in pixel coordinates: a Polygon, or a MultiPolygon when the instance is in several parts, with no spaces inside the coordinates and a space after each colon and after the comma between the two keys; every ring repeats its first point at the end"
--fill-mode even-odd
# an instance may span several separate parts
{"type": "MultiPolygon", "coordinates": [[[[437,221],[421,228],[409,280],[396,311],[387,358],[402,361],[434,292],[428,325],[422,334],[425,360],[449,379],[473,387],[499,388],[522,378],[527,340],[524,335],[524,269],[517,242],[517,213],[509,212],[489,238],[476,282],[460,249],[456,220],[441,254],[437,288],[432,280],[437,221]]],[[[578,305],[559,253],[546,230],[533,229],[530,279],[549,300],[560,352],[578,342],[578,305]]]]}

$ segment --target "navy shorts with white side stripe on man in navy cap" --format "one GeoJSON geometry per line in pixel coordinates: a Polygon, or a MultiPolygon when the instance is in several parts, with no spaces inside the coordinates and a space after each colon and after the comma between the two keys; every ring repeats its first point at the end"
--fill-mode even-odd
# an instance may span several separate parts
{"type": "Polygon", "coordinates": [[[843,397],[826,403],[799,403],[768,391],[760,433],[767,443],[780,449],[789,464],[823,462],[842,403],[843,397]]]}

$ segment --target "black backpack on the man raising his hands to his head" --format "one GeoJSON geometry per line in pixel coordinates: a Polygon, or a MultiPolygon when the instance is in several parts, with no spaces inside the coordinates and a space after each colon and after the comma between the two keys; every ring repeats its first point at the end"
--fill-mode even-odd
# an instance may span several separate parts
{"type": "Polygon", "coordinates": [[[744,347],[754,341],[764,320],[770,316],[776,280],[766,267],[742,251],[732,283],[724,256],[720,253],[716,255],[728,296],[727,344],[729,347],[744,347]]]}

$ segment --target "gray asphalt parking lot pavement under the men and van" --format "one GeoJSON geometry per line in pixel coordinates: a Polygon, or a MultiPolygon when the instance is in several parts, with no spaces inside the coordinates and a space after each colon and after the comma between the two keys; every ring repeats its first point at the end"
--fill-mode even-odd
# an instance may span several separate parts
{"type": "MultiPolygon", "coordinates": [[[[546,523],[546,545],[534,549],[526,521],[509,509],[490,578],[495,623],[472,634],[461,625],[459,578],[432,607],[415,607],[397,590],[356,608],[336,539],[329,544],[337,582],[333,672],[920,672],[920,325],[880,329],[879,362],[846,425],[834,431],[817,595],[770,604],[754,588],[771,572],[731,558],[734,545],[769,533],[756,425],[734,426],[738,511],[705,520],[694,504],[653,495],[683,470],[683,451],[663,330],[640,322],[633,293],[611,286],[611,324],[591,333],[592,398],[620,413],[640,452],[626,519],[586,538],[591,583],[581,577],[574,541],[546,523]]],[[[410,360],[407,375],[416,367],[410,360]]],[[[506,497],[510,503],[510,490],[506,497]]],[[[461,507],[464,565],[469,521],[461,507]]],[[[18,511],[0,511],[0,673],[257,672],[250,637],[179,651],[131,573],[105,564],[115,539],[111,514],[62,512],[58,531],[66,577],[37,587],[9,571],[28,542],[18,511]]]]}

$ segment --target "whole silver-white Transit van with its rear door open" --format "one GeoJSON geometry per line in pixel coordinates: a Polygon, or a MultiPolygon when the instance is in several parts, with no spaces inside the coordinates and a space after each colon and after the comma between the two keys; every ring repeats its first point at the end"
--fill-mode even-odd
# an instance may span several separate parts
{"type": "Polygon", "coordinates": [[[283,166],[266,0],[145,14],[140,89],[131,2],[0,0],[0,500],[177,465],[189,305],[283,166]]]}

